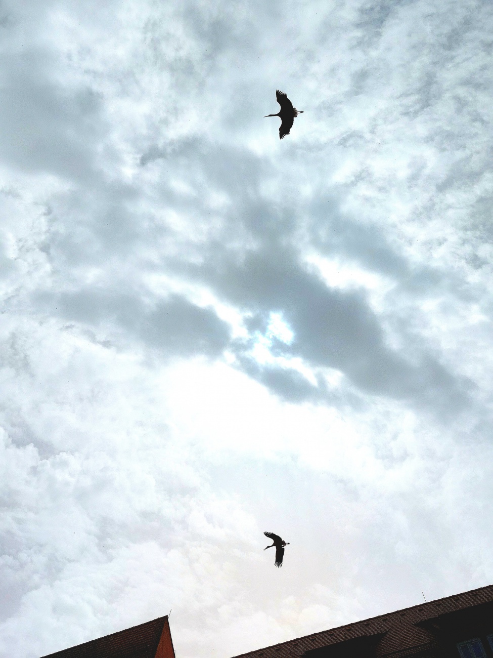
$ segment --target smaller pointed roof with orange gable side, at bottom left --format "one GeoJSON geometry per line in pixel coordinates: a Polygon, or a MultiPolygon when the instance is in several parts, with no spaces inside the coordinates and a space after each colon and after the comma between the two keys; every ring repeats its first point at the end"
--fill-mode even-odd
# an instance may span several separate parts
{"type": "Polygon", "coordinates": [[[168,615],[43,658],[174,658],[168,615]]]}

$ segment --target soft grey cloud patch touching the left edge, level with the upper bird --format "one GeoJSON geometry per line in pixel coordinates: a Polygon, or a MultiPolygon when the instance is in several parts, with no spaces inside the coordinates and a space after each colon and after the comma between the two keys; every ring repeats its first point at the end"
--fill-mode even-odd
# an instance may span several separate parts
{"type": "Polygon", "coordinates": [[[0,157],[24,171],[87,179],[104,131],[101,98],[57,84],[47,51],[26,50],[3,64],[0,157]]]}

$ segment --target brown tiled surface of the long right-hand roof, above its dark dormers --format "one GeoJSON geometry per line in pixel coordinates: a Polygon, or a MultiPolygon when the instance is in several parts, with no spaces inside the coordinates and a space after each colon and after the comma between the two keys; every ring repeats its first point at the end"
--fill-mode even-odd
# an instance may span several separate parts
{"type": "Polygon", "coordinates": [[[384,637],[381,644],[385,644],[385,646],[381,646],[381,650],[379,647],[379,653],[388,655],[402,650],[403,647],[430,642],[431,637],[426,630],[427,624],[423,624],[423,622],[485,603],[493,603],[493,585],[413,605],[386,615],[371,617],[301,638],[294,638],[288,642],[241,653],[234,658],[296,658],[308,651],[310,651],[309,655],[315,658],[314,649],[330,647],[330,645],[348,640],[354,640],[355,643],[371,642],[372,638],[379,641],[384,637]]]}

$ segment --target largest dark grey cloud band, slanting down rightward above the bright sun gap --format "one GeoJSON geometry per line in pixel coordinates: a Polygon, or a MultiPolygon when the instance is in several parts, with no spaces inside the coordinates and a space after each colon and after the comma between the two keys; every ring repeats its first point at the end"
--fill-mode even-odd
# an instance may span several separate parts
{"type": "Polygon", "coordinates": [[[408,355],[390,348],[364,294],[329,288],[298,264],[293,249],[255,251],[241,265],[226,261],[199,272],[227,301],[264,317],[269,311],[281,313],[294,332],[285,355],[302,357],[313,367],[337,368],[374,395],[421,401],[431,396],[435,404],[440,397],[440,406],[454,408],[465,403],[465,382],[425,352],[411,363],[408,355]]]}

